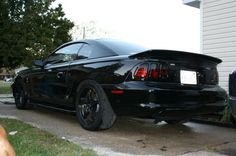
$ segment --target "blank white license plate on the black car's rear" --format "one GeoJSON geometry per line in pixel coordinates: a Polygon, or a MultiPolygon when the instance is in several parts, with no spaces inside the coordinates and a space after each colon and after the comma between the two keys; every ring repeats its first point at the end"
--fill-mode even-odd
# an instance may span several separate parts
{"type": "Polygon", "coordinates": [[[197,84],[197,73],[195,71],[180,70],[181,84],[197,84]]]}

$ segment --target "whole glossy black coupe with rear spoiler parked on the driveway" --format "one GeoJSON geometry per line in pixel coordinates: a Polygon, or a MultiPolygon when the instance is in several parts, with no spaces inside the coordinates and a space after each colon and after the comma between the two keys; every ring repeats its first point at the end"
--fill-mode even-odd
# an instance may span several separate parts
{"type": "Polygon", "coordinates": [[[151,50],[112,39],[66,43],[13,84],[16,107],[28,103],[76,112],[88,130],[110,128],[116,115],[177,123],[220,111],[218,58],[151,50]]]}

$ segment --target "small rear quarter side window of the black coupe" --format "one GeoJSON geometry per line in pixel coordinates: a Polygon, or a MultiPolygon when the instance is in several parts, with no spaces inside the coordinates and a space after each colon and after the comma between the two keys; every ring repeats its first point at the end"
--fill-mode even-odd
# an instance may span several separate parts
{"type": "Polygon", "coordinates": [[[103,48],[96,47],[94,45],[84,44],[82,48],[79,50],[78,59],[99,58],[113,55],[114,54],[112,52],[105,50],[103,48]]]}

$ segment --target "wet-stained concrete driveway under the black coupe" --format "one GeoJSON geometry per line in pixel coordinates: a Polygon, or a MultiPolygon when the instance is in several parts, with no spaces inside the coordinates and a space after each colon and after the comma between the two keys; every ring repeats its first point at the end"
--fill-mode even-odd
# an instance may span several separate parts
{"type": "Polygon", "coordinates": [[[197,123],[168,125],[151,120],[118,118],[105,131],[81,128],[75,115],[32,108],[17,110],[0,102],[0,117],[14,117],[59,137],[95,150],[99,155],[236,155],[236,129],[197,123]]]}

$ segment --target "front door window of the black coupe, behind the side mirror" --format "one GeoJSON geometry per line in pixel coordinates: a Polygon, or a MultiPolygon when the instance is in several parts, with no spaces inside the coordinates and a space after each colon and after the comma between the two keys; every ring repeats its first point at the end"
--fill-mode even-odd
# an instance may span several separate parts
{"type": "Polygon", "coordinates": [[[50,55],[47,59],[47,63],[54,64],[75,60],[81,46],[81,43],[76,43],[63,47],[50,55]]]}

